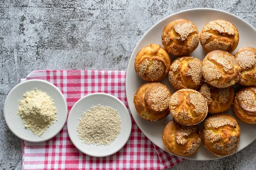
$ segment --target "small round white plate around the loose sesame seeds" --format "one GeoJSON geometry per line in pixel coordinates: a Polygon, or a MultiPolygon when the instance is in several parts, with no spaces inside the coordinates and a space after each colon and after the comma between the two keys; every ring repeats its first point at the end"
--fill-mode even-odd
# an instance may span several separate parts
{"type": "Polygon", "coordinates": [[[131,134],[131,116],[125,105],[115,96],[105,93],[88,94],[75,103],[67,118],[67,132],[71,141],[82,153],[89,156],[103,157],[110,156],[119,151],[128,141],[131,134]],[[93,105],[110,106],[117,109],[121,122],[121,132],[109,145],[84,144],[79,139],[76,126],[82,117],[81,112],[86,112],[93,105]]]}

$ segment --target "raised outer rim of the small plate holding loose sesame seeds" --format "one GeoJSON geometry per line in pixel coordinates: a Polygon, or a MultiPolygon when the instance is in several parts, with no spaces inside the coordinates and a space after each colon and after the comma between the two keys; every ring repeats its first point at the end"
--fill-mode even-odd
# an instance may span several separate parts
{"type": "MultiPolygon", "coordinates": [[[[70,137],[70,140],[71,140],[71,142],[74,144],[74,146],[80,151],[80,152],[82,152],[82,153],[84,153],[84,154],[86,154],[86,155],[88,155],[88,156],[93,156],[93,157],[97,157],[97,158],[102,158],[102,157],[106,157],[106,156],[111,156],[111,155],[113,155],[113,154],[115,154],[115,153],[117,153],[119,150],[121,150],[124,146],[125,146],[125,144],[128,142],[128,140],[129,140],[129,138],[130,138],[130,136],[131,136],[131,129],[132,129],[132,123],[131,123],[131,115],[130,115],[130,113],[129,113],[129,111],[128,111],[128,108],[125,106],[125,104],[120,100],[120,99],[118,99],[116,96],[113,96],[113,95],[111,95],[111,94],[107,94],[107,93],[102,93],[102,92],[96,92],[96,93],[91,93],[91,94],[87,94],[87,95],[85,95],[85,96],[83,96],[83,97],[81,97],[73,106],[72,106],[72,108],[71,108],[71,110],[70,110],[70,113],[68,114],[68,117],[67,117],[67,133],[68,133],[68,135],[69,135],[69,137],[70,137]],[[122,144],[122,146],[118,149],[118,150],[116,150],[116,151],[113,151],[113,152],[111,152],[111,153],[108,153],[108,154],[105,154],[105,155],[102,155],[102,156],[95,156],[95,155],[92,155],[92,154],[88,154],[88,153],[86,153],[86,152],[84,152],[83,150],[80,150],[80,148],[73,142],[73,139],[72,139],[72,137],[69,135],[69,133],[71,133],[70,132],[70,123],[69,123],[69,117],[70,117],[70,113],[72,113],[71,111],[73,110],[73,108],[75,108],[76,107],[76,105],[78,105],[79,104],[79,102],[81,102],[84,98],[88,98],[88,97],[90,97],[90,96],[94,96],[94,95],[105,95],[105,96],[108,96],[108,97],[111,97],[111,98],[113,98],[116,102],[118,102],[120,105],[122,105],[122,107],[125,109],[125,111],[128,113],[128,119],[126,119],[125,121],[128,121],[129,122],[129,125],[131,125],[130,127],[130,130],[129,130],[129,134],[128,134],[128,136],[126,137],[126,139],[125,140],[123,140],[124,141],[124,144],[122,144]]],[[[123,121],[123,120],[122,120],[123,121]]]]}

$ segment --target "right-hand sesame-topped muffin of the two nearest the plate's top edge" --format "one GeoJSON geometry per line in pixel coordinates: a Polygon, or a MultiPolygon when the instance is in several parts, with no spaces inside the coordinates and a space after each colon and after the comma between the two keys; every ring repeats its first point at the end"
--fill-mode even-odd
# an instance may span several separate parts
{"type": "Polygon", "coordinates": [[[213,50],[232,52],[239,42],[236,27],[226,20],[213,20],[207,23],[200,34],[200,43],[206,53],[213,50]]]}

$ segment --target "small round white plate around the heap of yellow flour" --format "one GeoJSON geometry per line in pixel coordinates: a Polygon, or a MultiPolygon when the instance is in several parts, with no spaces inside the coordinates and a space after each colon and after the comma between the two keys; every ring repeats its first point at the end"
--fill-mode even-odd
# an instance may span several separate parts
{"type": "Polygon", "coordinates": [[[17,137],[28,142],[44,142],[57,135],[64,126],[67,119],[67,102],[61,91],[52,83],[31,79],[21,82],[10,91],[6,97],[3,112],[7,126],[17,137]],[[24,93],[34,88],[46,92],[52,97],[57,109],[58,121],[55,121],[42,136],[36,136],[31,130],[25,129],[21,117],[17,115],[18,101],[22,99],[24,93]]]}

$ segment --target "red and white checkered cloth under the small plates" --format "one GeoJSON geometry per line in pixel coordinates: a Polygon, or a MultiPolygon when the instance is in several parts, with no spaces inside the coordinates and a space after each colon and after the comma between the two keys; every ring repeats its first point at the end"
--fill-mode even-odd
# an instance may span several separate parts
{"type": "MultiPolygon", "coordinates": [[[[43,79],[57,86],[67,100],[68,112],[81,97],[95,92],[116,96],[128,108],[125,71],[33,71],[26,79],[43,79]]],[[[125,146],[103,158],[87,156],[76,149],[68,136],[67,122],[60,133],[46,142],[21,141],[23,170],[163,170],[183,161],[148,140],[132,117],[131,122],[131,136],[125,146]]]]}

